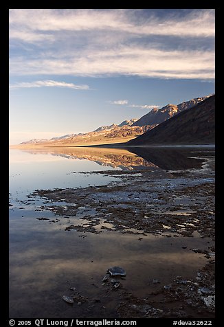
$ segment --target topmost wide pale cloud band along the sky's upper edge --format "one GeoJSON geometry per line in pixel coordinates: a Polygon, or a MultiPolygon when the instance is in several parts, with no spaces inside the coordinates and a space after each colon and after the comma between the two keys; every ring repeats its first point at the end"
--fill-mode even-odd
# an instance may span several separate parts
{"type": "Polygon", "coordinates": [[[133,19],[138,10],[50,10],[13,9],[13,28],[36,31],[113,30],[131,34],[170,36],[214,36],[214,10],[195,10],[188,16],[161,19],[152,14],[133,19]]]}

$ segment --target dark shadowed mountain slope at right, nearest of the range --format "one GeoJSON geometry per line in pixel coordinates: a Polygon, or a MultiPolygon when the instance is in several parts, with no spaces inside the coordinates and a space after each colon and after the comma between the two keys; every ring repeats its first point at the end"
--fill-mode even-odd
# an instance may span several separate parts
{"type": "Polygon", "coordinates": [[[215,95],[181,111],[152,130],[127,142],[128,146],[214,144],[215,95]]]}

